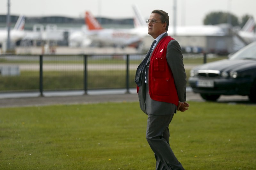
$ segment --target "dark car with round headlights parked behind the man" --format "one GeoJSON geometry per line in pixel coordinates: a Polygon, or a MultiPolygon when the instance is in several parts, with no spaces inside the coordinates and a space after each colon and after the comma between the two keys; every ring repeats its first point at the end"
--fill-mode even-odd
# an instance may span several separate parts
{"type": "Polygon", "coordinates": [[[205,100],[220,95],[248,95],[256,102],[256,42],[240,49],[229,59],[206,63],[190,71],[193,92],[205,100]]]}

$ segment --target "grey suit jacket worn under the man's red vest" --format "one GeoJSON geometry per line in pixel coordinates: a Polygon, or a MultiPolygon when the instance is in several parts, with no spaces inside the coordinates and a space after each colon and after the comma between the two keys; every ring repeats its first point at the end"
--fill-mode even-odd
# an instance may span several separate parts
{"type": "MultiPolygon", "coordinates": [[[[162,38],[164,38],[165,36],[168,36],[168,34],[165,33],[159,41],[161,41],[162,38]]],[[[152,52],[153,51],[154,49],[152,50],[152,52]]],[[[148,62],[145,68],[147,72],[147,82],[148,82],[148,76],[150,76],[148,75],[148,70],[149,70],[149,62],[150,62],[152,52],[148,58],[148,62]]],[[[172,40],[169,42],[167,46],[166,60],[167,60],[168,66],[172,70],[179,101],[181,102],[186,101],[186,84],[187,84],[186,72],[184,69],[183,56],[182,56],[181,48],[178,41],[172,40]]],[[[143,70],[143,72],[145,72],[145,69],[143,70]]],[[[148,93],[148,83],[145,83],[145,76],[143,76],[142,78],[142,85],[139,88],[138,95],[139,95],[139,101],[140,101],[140,108],[147,115],[148,114],[168,115],[168,114],[176,113],[176,109],[177,109],[176,105],[172,103],[152,100],[150,98],[148,93]]]]}

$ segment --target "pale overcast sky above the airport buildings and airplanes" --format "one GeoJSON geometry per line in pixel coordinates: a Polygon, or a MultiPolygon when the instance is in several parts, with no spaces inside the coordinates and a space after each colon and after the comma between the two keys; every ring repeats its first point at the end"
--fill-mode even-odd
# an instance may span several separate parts
{"type": "MultiPolygon", "coordinates": [[[[161,9],[169,13],[173,21],[174,0],[10,0],[10,12],[25,16],[83,17],[85,11],[94,16],[132,18],[132,5],[136,4],[144,18],[151,11],[161,9]]],[[[8,0],[0,0],[0,15],[7,13],[8,0]]],[[[241,18],[245,14],[256,19],[256,0],[177,0],[177,25],[203,25],[206,14],[212,11],[230,11],[241,18]]]]}

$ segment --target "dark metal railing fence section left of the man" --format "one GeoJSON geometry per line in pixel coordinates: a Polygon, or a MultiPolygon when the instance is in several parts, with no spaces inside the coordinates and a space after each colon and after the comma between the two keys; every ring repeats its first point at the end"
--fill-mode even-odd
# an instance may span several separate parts
{"type": "Polygon", "coordinates": [[[145,54],[0,55],[0,93],[136,88],[145,54]]]}

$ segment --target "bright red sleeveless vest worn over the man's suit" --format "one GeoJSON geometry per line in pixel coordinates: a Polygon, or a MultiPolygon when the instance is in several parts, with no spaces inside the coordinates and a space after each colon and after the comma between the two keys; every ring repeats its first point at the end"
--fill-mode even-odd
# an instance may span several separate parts
{"type": "MultiPolygon", "coordinates": [[[[172,70],[166,60],[168,43],[174,40],[165,36],[156,46],[150,58],[148,71],[148,87],[151,99],[178,106],[179,98],[174,83],[172,70]]],[[[170,54],[169,54],[170,55],[170,54]]],[[[168,56],[172,57],[172,56],[168,56]]]]}

